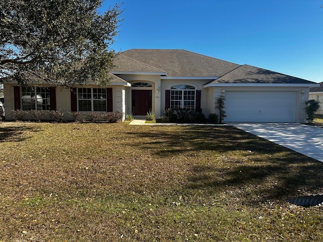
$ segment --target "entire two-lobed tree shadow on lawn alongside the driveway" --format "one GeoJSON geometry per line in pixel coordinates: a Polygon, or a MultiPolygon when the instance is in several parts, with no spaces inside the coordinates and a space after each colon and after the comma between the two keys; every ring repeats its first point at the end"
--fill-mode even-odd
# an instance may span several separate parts
{"type": "Polygon", "coordinates": [[[323,193],[321,162],[234,127],[194,127],[174,134],[152,129],[139,136],[147,142],[133,145],[151,148],[160,157],[218,152],[214,162],[205,160],[188,168],[186,189],[204,190],[210,195],[230,190],[238,194],[240,202],[254,206],[323,193]]]}

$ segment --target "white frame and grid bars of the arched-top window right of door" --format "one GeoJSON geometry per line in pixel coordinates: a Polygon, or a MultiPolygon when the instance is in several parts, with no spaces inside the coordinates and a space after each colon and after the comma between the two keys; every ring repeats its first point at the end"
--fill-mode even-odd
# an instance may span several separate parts
{"type": "Polygon", "coordinates": [[[173,85],[171,86],[171,97],[170,97],[170,101],[171,101],[171,108],[174,109],[178,109],[178,108],[188,108],[188,109],[194,109],[195,110],[195,106],[196,106],[196,87],[189,85],[189,84],[179,84],[179,85],[173,85]],[[187,88],[190,87],[190,88],[187,88]],[[176,92],[181,92],[181,94],[176,94],[176,92]],[[187,92],[194,92],[194,95],[190,94],[187,95],[185,93],[187,92]],[[174,96],[181,96],[181,99],[172,99],[172,97],[174,96]],[[185,99],[186,97],[192,97],[194,96],[194,100],[192,99],[185,99]],[[184,105],[185,102],[194,102],[194,105],[184,105]],[[172,105],[173,102],[180,102],[180,105],[172,105]]]}

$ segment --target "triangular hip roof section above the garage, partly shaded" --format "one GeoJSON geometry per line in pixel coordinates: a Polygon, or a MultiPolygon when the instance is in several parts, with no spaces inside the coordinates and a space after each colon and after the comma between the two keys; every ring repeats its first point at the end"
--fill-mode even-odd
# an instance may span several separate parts
{"type": "Polygon", "coordinates": [[[258,67],[242,65],[221,78],[211,81],[210,83],[312,84],[313,82],[273,71],[268,71],[258,67]]]}

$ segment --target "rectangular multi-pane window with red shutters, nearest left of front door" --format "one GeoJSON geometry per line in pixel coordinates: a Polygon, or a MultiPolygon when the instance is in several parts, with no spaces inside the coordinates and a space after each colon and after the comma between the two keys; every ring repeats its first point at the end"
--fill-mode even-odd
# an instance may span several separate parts
{"type": "Polygon", "coordinates": [[[106,88],[78,88],[78,110],[106,112],[106,88]]]}

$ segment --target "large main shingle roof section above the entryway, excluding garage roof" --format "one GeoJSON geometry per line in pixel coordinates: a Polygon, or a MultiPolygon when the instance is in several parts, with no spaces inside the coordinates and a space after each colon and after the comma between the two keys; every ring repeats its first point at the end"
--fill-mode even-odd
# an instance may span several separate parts
{"type": "Polygon", "coordinates": [[[111,72],[166,72],[168,77],[221,77],[240,65],[183,49],[120,52],[111,72]]]}

